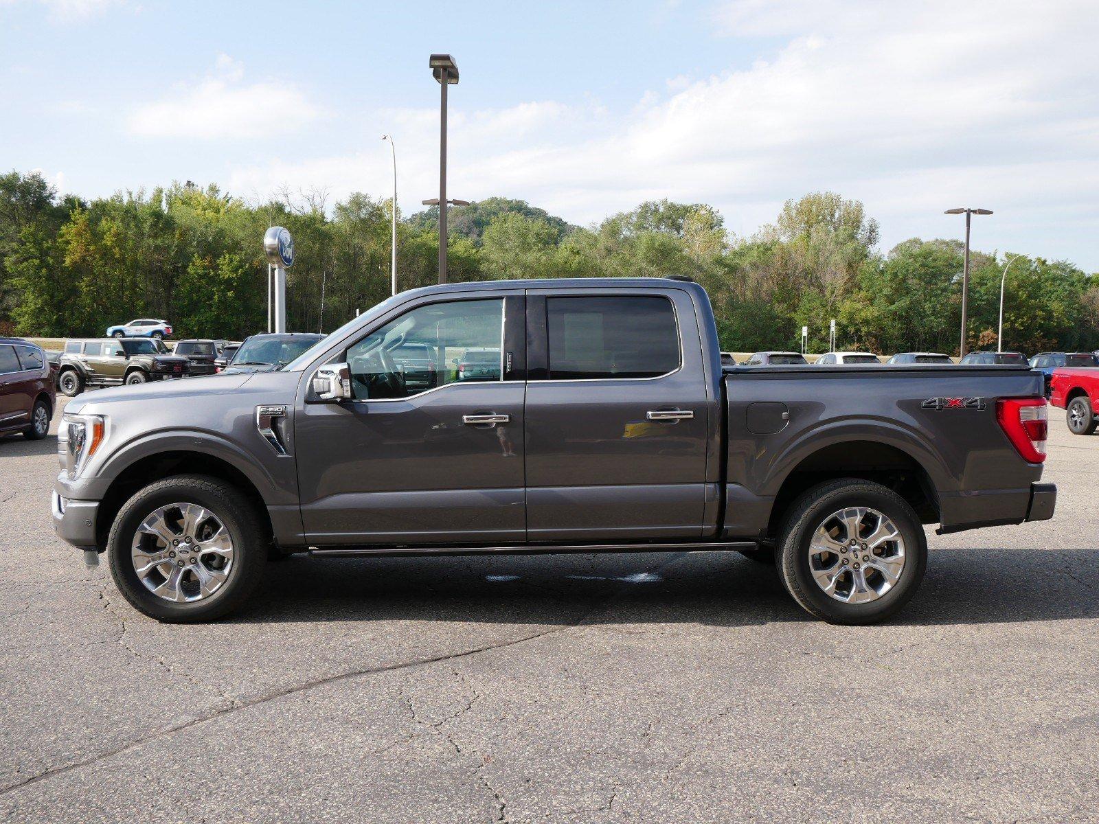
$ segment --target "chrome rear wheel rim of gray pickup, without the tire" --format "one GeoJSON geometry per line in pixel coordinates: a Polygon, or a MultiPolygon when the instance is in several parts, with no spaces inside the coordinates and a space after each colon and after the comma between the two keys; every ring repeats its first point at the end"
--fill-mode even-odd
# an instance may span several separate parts
{"type": "Polygon", "coordinates": [[[868,506],[833,512],[809,542],[817,586],[844,603],[868,603],[891,590],[904,570],[904,539],[891,520],[868,506]]]}

